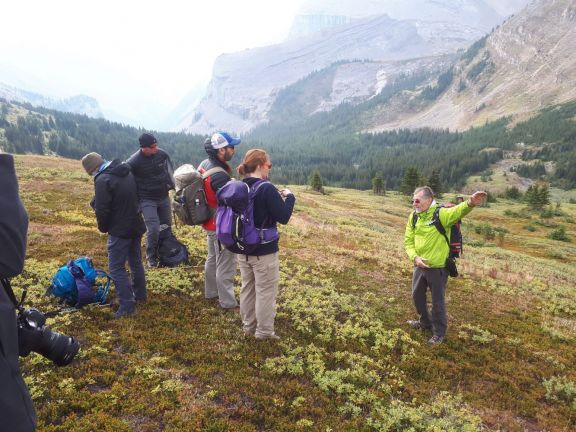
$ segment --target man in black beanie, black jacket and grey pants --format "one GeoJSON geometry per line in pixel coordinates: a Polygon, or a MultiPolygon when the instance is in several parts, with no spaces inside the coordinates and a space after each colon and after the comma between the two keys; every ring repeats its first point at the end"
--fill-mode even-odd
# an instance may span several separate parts
{"type": "Polygon", "coordinates": [[[154,135],[138,138],[140,149],[126,163],[138,186],[140,209],[146,223],[146,258],[148,267],[158,265],[160,225],[172,226],[172,207],[168,191],[174,189],[174,167],[170,156],[158,147],[154,135]]]}

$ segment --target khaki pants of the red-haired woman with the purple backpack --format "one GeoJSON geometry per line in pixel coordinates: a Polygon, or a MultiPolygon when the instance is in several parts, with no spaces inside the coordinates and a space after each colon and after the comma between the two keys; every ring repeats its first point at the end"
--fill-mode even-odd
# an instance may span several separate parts
{"type": "Polygon", "coordinates": [[[238,264],[242,275],[240,315],[244,332],[258,337],[274,335],[280,279],[278,252],[259,257],[238,255],[238,264]]]}

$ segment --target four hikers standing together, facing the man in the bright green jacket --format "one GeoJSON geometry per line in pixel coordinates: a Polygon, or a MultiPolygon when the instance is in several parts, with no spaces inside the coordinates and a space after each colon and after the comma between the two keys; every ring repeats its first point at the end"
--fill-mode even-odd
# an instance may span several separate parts
{"type": "MultiPolygon", "coordinates": [[[[249,150],[238,167],[243,180],[232,179],[229,162],[240,142],[226,132],[207,138],[204,142],[207,158],[192,170],[195,177],[191,177],[199,180],[196,192],[199,190],[200,195],[186,202],[188,191],[179,191],[179,203],[185,212],[197,212],[186,216],[192,220],[186,221],[201,225],[206,232],[205,298],[217,300],[223,311],[239,311],[245,334],[256,339],[278,339],[274,331],[279,282],[276,225],[288,223],[295,198],[290,190],[278,191],[268,180],[272,162],[264,150],[249,150]],[[249,206],[244,207],[249,207],[251,214],[240,217],[231,203],[236,203],[243,193],[246,204],[249,201],[249,206]],[[201,206],[208,211],[200,212],[201,206]],[[200,213],[203,218],[198,217],[200,213]],[[234,215],[236,225],[232,227],[229,219],[234,215]],[[248,220],[251,224],[245,223],[248,220]],[[249,245],[250,229],[257,240],[249,245]],[[227,243],[226,239],[234,234],[232,231],[240,233],[241,238],[236,236],[227,243]],[[240,303],[234,292],[238,266],[242,279],[240,303]]],[[[161,265],[165,261],[159,253],[162,239],[173,238],[169,191],[177,189],[177,184],[178,189],[189,186],[175,179],[170,157],[158,147],[152,134],[143,133],[139,143],[140,149],[126,162],[106,161],[98,153],[82,158],[84,169],[94,177],[92,206],[98,229],[108,234],[108,267],[119,303],[116,318],[134,314],[136,306],[146,301],[142,236],[146,233],[147,266],[161,265]]],[[[175,201],[174,205],[177,204],[175,201]]]]}

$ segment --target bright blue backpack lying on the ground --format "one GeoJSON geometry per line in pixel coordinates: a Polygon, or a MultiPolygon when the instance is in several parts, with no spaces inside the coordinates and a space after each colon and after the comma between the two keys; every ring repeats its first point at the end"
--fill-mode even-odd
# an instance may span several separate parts
{"type": "Polygon", "coordinates": [[[58,269],[46,294],[76,308],[90,303],[104,304],[110,291],[110,281],[105,271],[94,268],[92,259],[80,257],[58,269]]]}

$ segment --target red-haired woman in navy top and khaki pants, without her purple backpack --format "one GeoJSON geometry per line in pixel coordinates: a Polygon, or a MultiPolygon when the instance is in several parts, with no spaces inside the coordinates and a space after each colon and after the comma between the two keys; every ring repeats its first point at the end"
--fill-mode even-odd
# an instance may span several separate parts
{"type": "MultiPolygon", "coordinates": [[[[264,150],[252,149],[246,153],[238,173],[252,187],[258,180],[267,180],[272,162],[264,150]]],[[[277,223],[287,224],[292,216],[296,198],[289,189],[278,192],[270,183],[263,183],[254,198],[254,225],[273,228],[277,223]]],[[[246,335],[256,339],[280,339],[274,332],[276,296],[280,279],[278,240],[259,245],[248,255],[239,255],[242,275],[240,315],[246,335]]]]}

